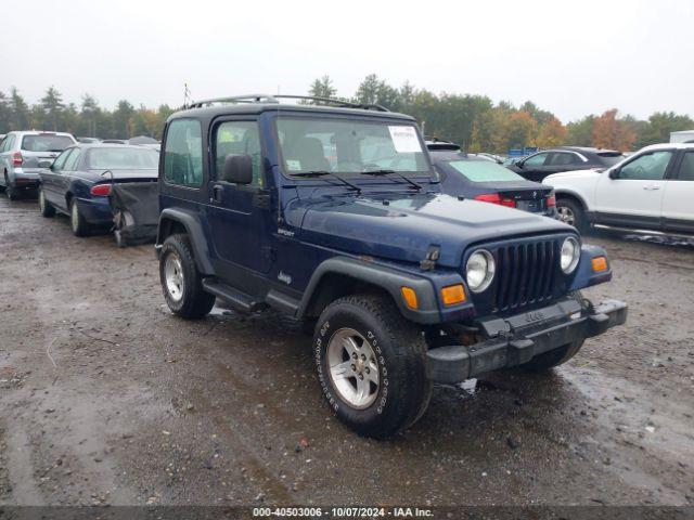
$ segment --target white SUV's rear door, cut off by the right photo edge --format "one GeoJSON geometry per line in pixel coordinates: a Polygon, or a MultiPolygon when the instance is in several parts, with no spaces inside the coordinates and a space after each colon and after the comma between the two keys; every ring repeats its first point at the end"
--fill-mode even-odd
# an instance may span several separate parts
{"type": "Polygon", "coordinates": [[[667,231],[694,233],[694,150],[682,153],[677,171],[668,177],[663,195],[667,231]]]}

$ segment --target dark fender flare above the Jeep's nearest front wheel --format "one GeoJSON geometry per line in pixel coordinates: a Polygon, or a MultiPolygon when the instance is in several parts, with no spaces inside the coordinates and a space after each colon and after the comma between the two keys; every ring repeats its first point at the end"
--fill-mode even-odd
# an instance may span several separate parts
{"type": "Polygon", "coordinates": [[[304,317],[307,311],[310,311],[311,304],[319,297],[321,282],[326,275],[331,274],[381,287],[390,295],[399,311],[408,320],[422,324],[440,322],[438,299],[432,281],[412,273],[397,271],[385,265],[350,257],[330,258],[313,271],[299,302],[297,317],[304,317]],[[415,290],[419,303],[416,310],[406,306],[401,295],[402,286],[411,287],[415,290]]]}

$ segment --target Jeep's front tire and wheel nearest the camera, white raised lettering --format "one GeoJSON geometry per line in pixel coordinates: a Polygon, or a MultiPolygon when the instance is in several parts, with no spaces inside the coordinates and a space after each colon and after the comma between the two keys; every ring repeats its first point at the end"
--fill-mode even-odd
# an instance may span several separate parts
{"type": "Polygon", "coordinates": [[[313,351],[325,399],[358,433],[384,439],[426,411],[426,341],[390,298],[354,295],[331,303],[318,321],[313,351]]]}

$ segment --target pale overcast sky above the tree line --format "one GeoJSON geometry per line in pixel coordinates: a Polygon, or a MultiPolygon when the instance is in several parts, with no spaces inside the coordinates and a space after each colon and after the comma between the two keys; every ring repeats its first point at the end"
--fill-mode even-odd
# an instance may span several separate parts
{"type": "Polygon", "coordinates": [[[351,95],[375,73],[531,100],[564,122],[612,107],[694,116],[693,31],[691,0],[25,0],[0,29],[0,91],[179,106],[184,82],[193,99],[306,93],[327,74],[351,95]]]}

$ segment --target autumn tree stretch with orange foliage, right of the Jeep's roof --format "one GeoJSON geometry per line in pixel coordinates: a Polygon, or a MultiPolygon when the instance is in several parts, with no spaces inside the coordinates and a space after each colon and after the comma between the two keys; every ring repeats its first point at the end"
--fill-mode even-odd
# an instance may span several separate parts
{"type": "MultiPolygon", "coordinates": [[[[335,98],[330,76],[313,80],[309,95],[335,98]]],[[[396,88],[369,75],[351,98],[356,103],[378,104],[414,116],[424,133],[459,143],[468,152],[506,153],[524,146],[596,146],[622,152],[670,140],[670,132],[694,129],[687,115],[657,112],[647,120],[620,115],[616,108],[589,115],[567,125],[549,110],[527,101],[520,106],[486,95],[436,94],[411,83],[396,88]]]]}

